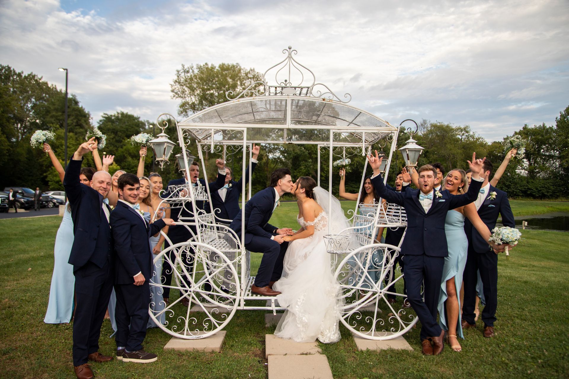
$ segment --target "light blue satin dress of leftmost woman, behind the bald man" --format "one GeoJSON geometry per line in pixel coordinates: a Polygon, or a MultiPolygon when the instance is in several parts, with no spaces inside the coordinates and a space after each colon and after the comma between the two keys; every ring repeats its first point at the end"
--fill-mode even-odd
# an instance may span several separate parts
{"type": "Polygon", "coordinates": [[[65,205],[63,219],[57,229],[55,248],[53,248],[53,275],[51,277],[50,301],[47,304],[47,324],[61,324],[71,321],[73,315],[73,298],[75,276],[73,265],[67,263],[73,246],[73,219],[69,203],[65,205]]]}

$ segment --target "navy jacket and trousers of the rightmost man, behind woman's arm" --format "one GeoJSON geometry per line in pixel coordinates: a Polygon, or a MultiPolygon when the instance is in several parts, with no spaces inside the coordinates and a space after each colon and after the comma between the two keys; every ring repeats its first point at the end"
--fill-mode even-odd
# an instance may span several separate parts
{"type": "MultiPolygon", "coordinates": [[[[514,214],[510,208],[508,194],[492,185],[484,202],[478,210],[480,219],[490,231],[496,227],[498,215],[502,215],[502,224],[511,228],[516,227],[514,214]],[[490,199],[489,194],[496,192],[496,198],[490,199]]],[[[468,239],[468,255],[466,266],[464,267],[464,305],[462,319],[469,324],[474,324],[475,303],[476,303],[476,271],[480,270],[482,279],[484,298],[486,305],[482,310],[481,318],[486,326],[494,326],[496,321],[496,308],[498,306],[498,255],[489,247],[480,233],[472,226],[467,219],[464,222],[464,232],[468,239]]]]}

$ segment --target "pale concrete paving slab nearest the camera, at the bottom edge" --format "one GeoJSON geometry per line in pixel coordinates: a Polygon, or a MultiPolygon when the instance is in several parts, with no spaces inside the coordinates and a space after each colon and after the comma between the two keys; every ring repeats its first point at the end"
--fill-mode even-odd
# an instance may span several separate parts
{"type": "Polygon", "coordinates": [[[325,355],[271,355],[269,379],[333,379],[325,355]]]}

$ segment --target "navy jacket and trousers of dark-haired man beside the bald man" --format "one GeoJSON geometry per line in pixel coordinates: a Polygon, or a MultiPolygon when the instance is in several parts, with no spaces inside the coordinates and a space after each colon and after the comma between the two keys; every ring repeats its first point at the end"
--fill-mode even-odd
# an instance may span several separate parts
{"type": "Polygon", "coordinates": [[[166,224],[159,219],[146,223],[127,204],[119,201],[110,214],[117,252],[114,291],[117,294],[115,320],[117,322],[117,346],[125,346],[128,351],[142,349],[146,336],[150,304],[150,278],[152,277],[152,251],[149,238],[158,233],[166,224]],[[134,276],[141,272],[145,282],[134,285],[134,276]]]}

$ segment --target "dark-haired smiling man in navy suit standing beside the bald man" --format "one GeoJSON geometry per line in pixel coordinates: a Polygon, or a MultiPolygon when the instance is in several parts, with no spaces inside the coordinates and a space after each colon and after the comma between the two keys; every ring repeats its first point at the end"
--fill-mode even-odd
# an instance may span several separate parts
{"type": "Polygon", "coordinates": [[[140,207],[140,182],[134,174],[118,178],[119,199],[110,214],[110,226],[117,252],[114,291],[117,294],[117,359],[125,362],[154,362],[158,356],[142,348],[146,336],[152,277],[152,249],[149,238],[166,225],[170,218],[147,223],[140,207]]]}

